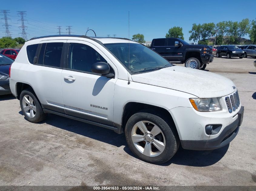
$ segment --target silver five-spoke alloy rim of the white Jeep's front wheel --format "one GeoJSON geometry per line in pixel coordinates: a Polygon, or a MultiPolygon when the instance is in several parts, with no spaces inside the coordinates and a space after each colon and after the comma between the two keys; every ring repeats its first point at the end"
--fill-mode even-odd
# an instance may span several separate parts
{"type": "Polygon", "coordinates": [[[156,157],[165,150],[165,136],[152,122],[139,121],[133,126],[131,134],[135,147],[148,157],[156,157]]]}

